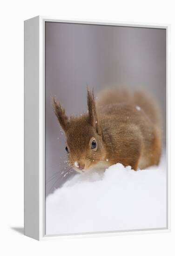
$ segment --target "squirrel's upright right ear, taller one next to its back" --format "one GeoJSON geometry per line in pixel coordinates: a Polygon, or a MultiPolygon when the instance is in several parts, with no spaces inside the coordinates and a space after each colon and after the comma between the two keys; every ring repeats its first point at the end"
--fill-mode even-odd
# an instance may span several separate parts
{"type": "Polygon", "coordinates": [[[96,129],[98,135],[101,135],[101,128],[98,123],[98,116],[96,112],[95,100],[94,100],[94,91],[90,91],[87,88],[87,103],[88,103],[88,112],[89,112],[89,123],[92,127],[96,129]]]}

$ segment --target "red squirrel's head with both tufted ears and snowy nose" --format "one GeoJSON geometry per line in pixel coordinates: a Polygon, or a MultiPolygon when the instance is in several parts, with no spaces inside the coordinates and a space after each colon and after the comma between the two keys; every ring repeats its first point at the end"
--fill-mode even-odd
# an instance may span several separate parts
{"type": "Polygon", "coordinates": [[[67,117],[65,109],[53,98],[54,113],[63,129],[67,144],[65,150],[69,165],[78,172],[85,172],[103,164],[105,148],[98,122],[94,93],[87,89],[88,113],[67,117]]]}

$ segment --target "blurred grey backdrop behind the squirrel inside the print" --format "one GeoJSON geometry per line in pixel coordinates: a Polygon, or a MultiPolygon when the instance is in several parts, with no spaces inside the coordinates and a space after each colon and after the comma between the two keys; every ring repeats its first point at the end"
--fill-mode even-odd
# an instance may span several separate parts
{"type": "Polygon", "coordinates": [[[107,86],[146,89],[162,109],[165,143],[165,29],[46,22],[45,47],[46,195],[74,175],[64,177],[66,138],[52,96],[68,115],[79,115],[87,111],[87,85],[95,94],[107,86]]]}

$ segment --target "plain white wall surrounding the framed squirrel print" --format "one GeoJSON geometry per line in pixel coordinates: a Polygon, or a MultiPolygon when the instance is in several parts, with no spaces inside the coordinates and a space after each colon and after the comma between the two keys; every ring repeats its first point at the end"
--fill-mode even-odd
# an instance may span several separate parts
{"type": "MultiPolygon", "coordinates": [[[[23,20],[46,15],[57,19],[92,19],[170,23],[172,164],[175,152],[174,1],[30,0],[0,5],[0,254],[1,255],[175,255],[175,172],[172,168],[172,232],[168,234],[62,239],[39,243],[14,228],[23,227],[23,20]],[[13,229],[12,229],[13,228],[13,229]]],[[[172,165],[173,167],[173,165],[172,165]]],[[[20,229],[21,230],[21,229],[20,229]]]]}

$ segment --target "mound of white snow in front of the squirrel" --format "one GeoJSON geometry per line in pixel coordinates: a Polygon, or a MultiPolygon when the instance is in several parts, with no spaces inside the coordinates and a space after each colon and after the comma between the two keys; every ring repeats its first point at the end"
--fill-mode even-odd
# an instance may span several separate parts
{"type": "Polygon", "coordinates": [[[46,199],[46,234],[166,227],[166,157],[134,171],[77,174],[46,199]]]}

